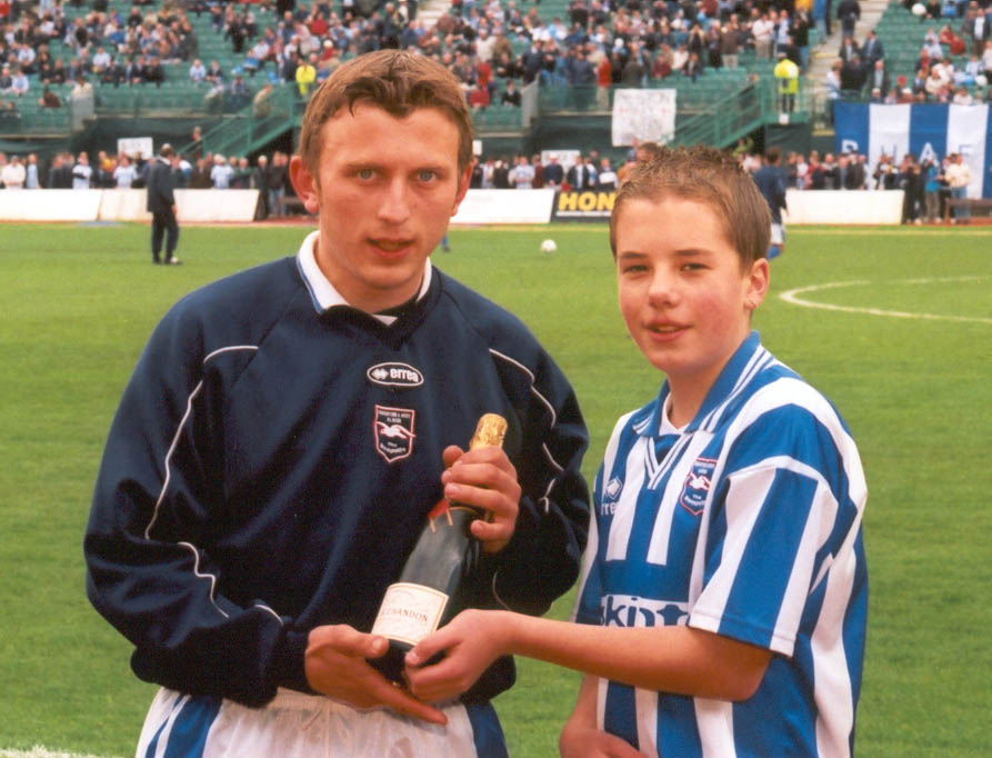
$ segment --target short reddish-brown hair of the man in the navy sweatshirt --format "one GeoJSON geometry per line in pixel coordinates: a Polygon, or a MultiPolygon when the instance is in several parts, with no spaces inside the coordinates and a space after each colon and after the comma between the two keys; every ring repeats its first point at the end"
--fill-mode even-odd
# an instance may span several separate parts
{"type": "Polygon", "coordinates": [[[472,118],[453,73],[437,61],[403,50],[379,50],[343,63],[321,84],[303,113],[300,156],[315,177],[320,132],[341,108],[368,102],[395,118],[419,108],[440,108],[458,127],[458,167],[472,162],[472,118]]]}

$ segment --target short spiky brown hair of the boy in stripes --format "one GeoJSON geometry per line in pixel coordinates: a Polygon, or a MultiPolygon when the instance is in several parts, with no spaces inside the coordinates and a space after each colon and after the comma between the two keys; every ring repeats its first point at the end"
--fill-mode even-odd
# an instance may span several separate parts
{"type": "Polygon", "coordinates": [[[662,148],[653,160],[638,163],[617,191],[610,215],[610,248],[617,257],[617,226],[624,205],[665,197],[699,200],[715,211],[728,241],[745,269],[768,255],[771,212],[751,176],[730,154],[698,144],[662,148]]]}

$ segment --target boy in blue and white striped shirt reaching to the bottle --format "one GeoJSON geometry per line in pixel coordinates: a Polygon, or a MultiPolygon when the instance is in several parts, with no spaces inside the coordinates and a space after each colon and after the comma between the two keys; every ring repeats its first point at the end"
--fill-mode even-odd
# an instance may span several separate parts
{"type": "Polygon", "coordinates": [[[751,330],[769,229],[753,181],[709,148],[623,184],[620,310],[665,380],[607,447],[579,624],[465,611],[408,654],[417,696],[452,697],[512,652],[585,674],[568,758],[851,755],[866,489],[833,406],[751,330]]]}

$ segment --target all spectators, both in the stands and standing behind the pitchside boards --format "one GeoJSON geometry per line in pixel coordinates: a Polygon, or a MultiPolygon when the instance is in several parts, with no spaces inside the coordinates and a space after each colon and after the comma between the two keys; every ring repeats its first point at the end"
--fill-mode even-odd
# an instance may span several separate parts
{"type": "MultiPolygon", "coordinates": [[[[519,107],[521,89],[534,80],[595,90],[598,106],[608,108],[613,86],[643,87],[671,76],[694,80],[712,69],[737,69],[748,56],[766,66],[769,76],[781,79],[780,71],[788,71],[790,81],[780,84],[780,93],[782,109],[792,110],[792,81],[809,66],[810,30],[815,23],[829,32],[831,24],[831,12],[823,16],[824,3],[792,0],[571,0],[563,17],[550,18],[539,3],[524,9],[519,0],[454,0],[451,12],[430,27],[417,18],[415,0],[389,1],[377,9],[355,0],[166,0],[136,2],[127,12],[107,0],[72,11],[63,0],[40,0],[30,9],[7,4],[6,16],[2,3],[0,96],[9,99],[0,98],[0,114],[23,97],[37,98],[42,108],[59,108],[62,99],[53,87],[67,82],[76,83],[77,97],[92,93],[91,80],[114,87],[160,86],[177,77],[202,87],[208,101],[233,109],[253,103],[263,114],[274,86],[284,82],[307,98],[342,61],[384,47],[414,49],[440,60],[462,82],[474,109],[493,103],[519,107]],[[226,60],[234,60],[234,67],[200,57],[197,29],[203,27],[193,17],[204,14],[210,33],[230,46],[232,58],[226,60]],[[54,49],[64,54],[53,54],[54,49]],[[32,86],[36,93],[30,93],[32,86]]],[[[910,77],[889,70],[874,32],[854,39],[860,6],[858,0],[840,0],[834,14],[844,39],[828,74],[830,97],[856,93],[875,102],[960,103],[982,97],[992,76],[988,2],[932,0],[925,8],[946,23],[928,33],[915,76],[910,77]],[[968,62],[955,64],[953,59],[962,56],[968,62]]],[[[754,162],[746,151],[738,152],[754,162]]],[[[540,156],[484,157],[472,186],[608,191],[622,181],[632,156],[613,161],[592,151],[569,167],[540,156]]],[[[46,170],[34,156],[0,160],[0,171],[9,178],[3,183],[11,188],[142,182],[142,161],[128,156],[100,153],[90,164],[86,153],[59,154],[46,170]],[[19,181],[21,170],[26,176],[19,181]]],[[[244,157],[199,152],[173,161],[178,187],[255,187],[262,190],[263,212],[284,212],[291,189],[283,153],[259,156],[254,166],[244,157]]],[[[808,157],[790,153],[783,162],[790,187],[796,189],[902,188],[913,198],[918,184],[928,186],[934,166],[906,158],[898,166],[883,160],[869,170],[864,156],[825,154],[821,160],[815,151],[808,157]]],[[[910,221],[942,217],[942,211],[926,212],[923,189],[919,197],[910,203],[915,210],[906,212],[910,221]]]]}

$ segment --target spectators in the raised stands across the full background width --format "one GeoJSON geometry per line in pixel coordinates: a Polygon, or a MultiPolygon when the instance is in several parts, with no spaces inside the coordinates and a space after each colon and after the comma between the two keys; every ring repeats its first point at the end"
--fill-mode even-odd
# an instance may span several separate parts
{"type": "MultiPolygon", "coordinates": [[[[563,16],[549,18],[539,3],[524,9],[519,0],[454,0],[428,27],[414,0],[378,8],[354,0],[166,0],[127,11],[107,0],[72,10],[66,2],[8,6],[0,18],[0,104],[16,108],[32,87],[41,107],[59,108],[53,86],[161,86],[168,79],[202,86],[208,103],[238,110],[260,81],[290,83],[305,98],[341,61],[383,47],[442,61],[475,109],[519,106],[521,88],[537,79],[595,89],[595,102],[608,108],[613,86],[694,80],[712,69],[737,69],[742,54],[766,62],[769,74],[778,60],[780,92],[794,96],[798,74],[809,66],[810,30],[825,22],[829,31],[832,14],[829,3],[794,0],[571,0],[563,16]],[[204,14],[209,33],[229,46],[226,63],[234,66],[200,58],[197,29],[204,27],[192,19],[204,14]],[[781,81],[782,71],[790,81],[781,81]]],[[[930,0],[923,7],[946,24],[928,36],[914,73],[894,72],[873,32],[854,39],[858,0],[840,0],[833,14],[844,41],[826,78],[830,98],[966,103],[983,97],[992,74],[989,3],[930,0]],[[952,60],[965,54],[964,64],[952,60]]],[[[783,98],[783,110],[793,103],[794,97],[783,98]]]]}

